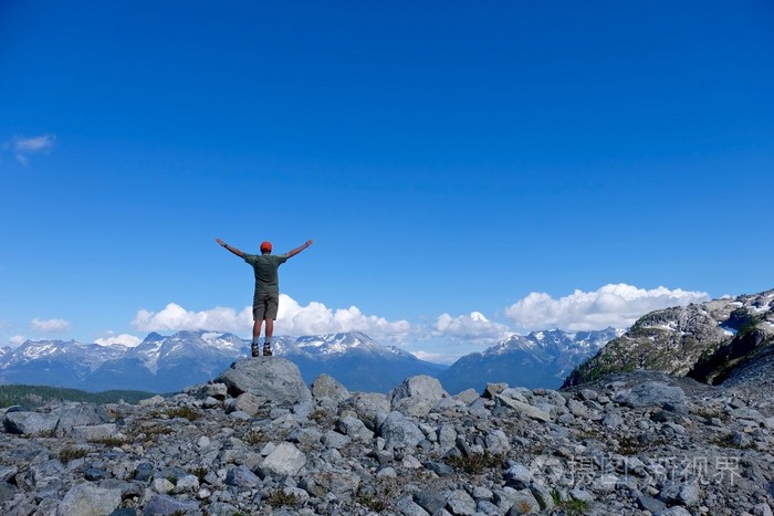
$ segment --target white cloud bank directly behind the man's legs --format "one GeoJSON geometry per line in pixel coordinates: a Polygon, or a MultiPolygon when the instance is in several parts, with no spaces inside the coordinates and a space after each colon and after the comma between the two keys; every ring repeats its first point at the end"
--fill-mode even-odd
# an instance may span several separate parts
{"type": "MultiPolygon", "coordinates": [[[[213,329],[249,335],[252,328],[252,308],[241,312],[216,307],[191,312],[169,303],[160,312],[140,309],[132,326],[142,331],[181,329],[213,329]]],[[[363,331],[374,338],[399,341],[409,335],[411,325],[406,320],[389,322],[383,317],[363,314],[356,306],[333,310],[324,304],[312,302],[301,306],[295,299],[280,295],[280,310],[274,325],[275,335],[317,335],[338,331],[363,331]]]]}

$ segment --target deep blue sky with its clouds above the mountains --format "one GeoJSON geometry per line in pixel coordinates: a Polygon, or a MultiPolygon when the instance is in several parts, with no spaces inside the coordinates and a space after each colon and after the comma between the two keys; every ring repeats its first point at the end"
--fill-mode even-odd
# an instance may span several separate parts
{"type": "Polygon", "coordinates": [[[449,361],[772,288],[774,4],[0,3],[0,346],[360,329],[449,361]]]}

